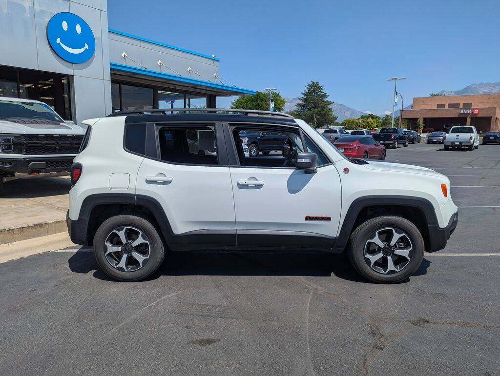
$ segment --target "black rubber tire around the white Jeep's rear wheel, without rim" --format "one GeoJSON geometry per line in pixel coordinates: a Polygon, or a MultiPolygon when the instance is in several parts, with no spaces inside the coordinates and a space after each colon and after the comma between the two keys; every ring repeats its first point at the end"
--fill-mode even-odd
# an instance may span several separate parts
{"type": "Polygon", "coordinates": [[[165,258],[165,250],[158,230],[147,218],[137,215],[117,215],[105,220],[95,232],[93,240],[95,260],[100,268],[111,278],[123,282],[140,281],[154,273],[165,258]],[[105,256],[104,242],[109,234],[121,226],[132,226],[139,229],[149,239],[149,258],[144,266],[131,272],[115,269],[105,256]]]}

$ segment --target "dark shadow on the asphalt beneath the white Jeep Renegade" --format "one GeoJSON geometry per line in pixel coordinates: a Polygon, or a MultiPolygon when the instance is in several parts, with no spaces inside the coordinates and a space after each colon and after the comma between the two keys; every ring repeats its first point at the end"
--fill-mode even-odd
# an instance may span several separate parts
{"type": "MultiPolygon", "coordinates": [[[[68,260],[73,273],[113,281],[97,266],[92,252],[76,252],[68,260]]],[[[413,276],[426,274],[430,262],[423,260],[413,276]]],[[[300,253],[170,252],[161,267],[147,280],[160,276],[311,276],[370,283],[350,265],[345,255],[300,253]]],[[[408,282],[402,281],[401,283],[408,282]]]]}

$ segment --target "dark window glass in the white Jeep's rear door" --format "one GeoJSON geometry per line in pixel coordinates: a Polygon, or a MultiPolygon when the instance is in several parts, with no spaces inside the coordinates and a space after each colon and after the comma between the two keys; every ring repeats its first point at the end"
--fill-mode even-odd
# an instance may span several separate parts
{"type": "Polygon", "coordinates": [[[160,128],[160,158],[165,162],[216,165],[215,133],[208,127],[160,128]]]}

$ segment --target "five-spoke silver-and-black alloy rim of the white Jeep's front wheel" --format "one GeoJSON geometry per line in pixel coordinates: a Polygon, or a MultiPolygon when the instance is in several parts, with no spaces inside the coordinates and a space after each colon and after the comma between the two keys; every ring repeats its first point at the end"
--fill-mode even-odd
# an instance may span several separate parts
{"type": "Polygon", "coordinates": [[[409,236],[400,229],[386,227],[375,231],[364,245],[364,260],[375,272],[400,272],[410,262],[413,249],[409,236]]]}

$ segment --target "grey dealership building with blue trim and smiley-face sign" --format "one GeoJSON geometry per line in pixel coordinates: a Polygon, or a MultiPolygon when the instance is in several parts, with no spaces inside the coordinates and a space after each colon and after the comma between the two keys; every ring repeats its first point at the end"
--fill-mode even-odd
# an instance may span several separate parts
{"type": "Polygon", "coordinates": [[[109,29],[106,0],[1,2],[0,36],[0,100],[40,100],[77,123],[255,93],[221,78],[215,55],[109,29]]]}

